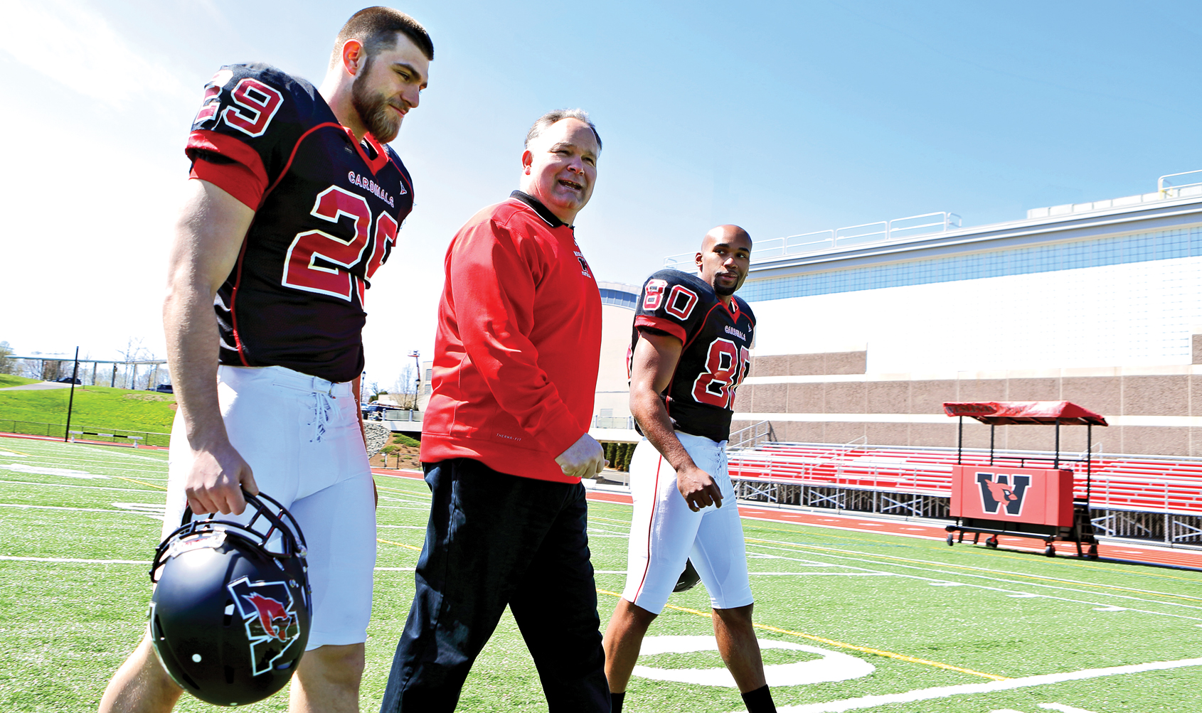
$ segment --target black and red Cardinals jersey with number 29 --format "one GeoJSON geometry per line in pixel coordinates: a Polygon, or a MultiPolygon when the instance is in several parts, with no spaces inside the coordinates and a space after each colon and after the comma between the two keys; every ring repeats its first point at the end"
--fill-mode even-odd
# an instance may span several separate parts
{"type": "Polygon", "coordinates": [[[339,124],[313,84],[227,65],[188,139],[192,177],[255,210],[214,299],[221,363],[351,381],[363,372],[363,292],[413,207],[405,166],[339,124]]]}

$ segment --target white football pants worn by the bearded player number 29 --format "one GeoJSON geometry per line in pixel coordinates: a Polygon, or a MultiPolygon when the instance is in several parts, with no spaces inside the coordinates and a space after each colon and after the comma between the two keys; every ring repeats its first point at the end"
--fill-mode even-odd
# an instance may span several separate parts
{"type": "MultiPolygon", "coordinates": [[[[230,442],[250,464],[262,493],[296,518],[309,548],[313,628],[307,650],[367,641],[376,558],[375,505],[359,410],[350,384],[284,367],[218,370],[230,442]]],[[[191,451],[182,417],[171,432],[163,537],[179,527],[191,451]]],[[[218,519],[245,523],[242,516],[218,519]]],[[[257,525],[256,525],[257,527],[257,525]]]]}

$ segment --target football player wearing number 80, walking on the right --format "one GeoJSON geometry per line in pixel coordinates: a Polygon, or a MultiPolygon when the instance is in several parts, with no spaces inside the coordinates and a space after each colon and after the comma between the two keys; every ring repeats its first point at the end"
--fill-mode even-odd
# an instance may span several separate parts
{"type": "Polygon", "coordinates": [[[614,713],[621,713],[643,636],[685,562],[709,592],[718,650],[748,711],[775,711],[751,626],[743,524],[726,473],[734,390],[751,366],[755,315],[734,296],[751,265],[751,236],[718,226],[706,233],[696,263],[696,274],[651,275],[635,311],[630,410],[644,438],[630,462],[626,588],[605,632],[614,713]]]}

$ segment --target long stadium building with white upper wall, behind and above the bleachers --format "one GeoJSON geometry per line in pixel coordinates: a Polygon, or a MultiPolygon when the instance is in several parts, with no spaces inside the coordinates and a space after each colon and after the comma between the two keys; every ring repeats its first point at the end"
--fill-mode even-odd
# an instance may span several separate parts
{"type": "MultiPolygon", "coordinates": [[[[758,242],[736,428],[953,446],[944,402],[1070,400],[1109,421],[1095,450],[1202,456],[1202,184],[1159,188],[1012,222],[936,213],[758,242]]],[[[966,427],[965,445],[988,446],[988,430],[966,427]]],[[[1043,429],[996,435],[1052,447],[1043,429]]]]}

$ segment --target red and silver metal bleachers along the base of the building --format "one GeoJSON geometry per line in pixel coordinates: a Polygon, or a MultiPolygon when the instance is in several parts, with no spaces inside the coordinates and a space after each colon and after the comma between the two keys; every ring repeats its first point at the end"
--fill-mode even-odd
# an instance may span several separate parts
{"type": "MultiPolygon", "coordinates": [[[[964,448],[960,457],[989,463],[986,448],[964,448]]],[[[1051,462],[1052,453],[1007,450],[1004,459],[1051,462]]],[[[731,447],[728,461],[744,500],[951,519],[956,448],[760,441],[731,447]]],[[[1073,494],[1085,498],[1084,464],[1071,465],[1073,494]]],[[[1094,453],[1089,480],[1099,536],[1202,547],[1202,458],[1094,453]]]]}

